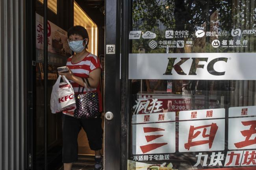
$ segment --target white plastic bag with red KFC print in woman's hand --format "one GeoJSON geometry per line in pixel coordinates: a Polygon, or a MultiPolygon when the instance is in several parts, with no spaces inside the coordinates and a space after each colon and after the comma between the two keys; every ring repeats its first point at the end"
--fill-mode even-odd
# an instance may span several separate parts
{"type": "Polygon", "coordinates": [[[61,76],[52,87],[51,110],[52,113],[63,111],[74,111],[76,109],[76,99],[72,85],[65,76],[62,76],[64,82],[60,83],[61,76]]]}

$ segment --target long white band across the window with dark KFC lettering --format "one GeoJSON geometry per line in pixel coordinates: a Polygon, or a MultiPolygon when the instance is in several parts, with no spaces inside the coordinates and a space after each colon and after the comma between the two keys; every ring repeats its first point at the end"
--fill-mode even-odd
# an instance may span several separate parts
{"type": "Polygon", "coordinates": [[[256,80],[255,53],[129,54],[129,79],[256,80]]]}

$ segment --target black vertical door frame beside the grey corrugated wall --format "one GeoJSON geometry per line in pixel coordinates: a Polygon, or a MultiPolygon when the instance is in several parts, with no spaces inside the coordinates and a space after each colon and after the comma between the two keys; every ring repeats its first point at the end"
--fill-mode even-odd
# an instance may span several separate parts
{"type": "Polygon", "coordinates": [[[26,0],[26,162],[25,169],[33,169],[35,165],[35,0],[26,0]]]}

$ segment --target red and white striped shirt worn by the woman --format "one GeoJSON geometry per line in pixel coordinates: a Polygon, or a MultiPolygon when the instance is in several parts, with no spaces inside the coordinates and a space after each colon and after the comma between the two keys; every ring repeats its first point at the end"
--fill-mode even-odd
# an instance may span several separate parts
{"type": "MultiPolygon", "coordinates": [[[[91,53],[85,56],[83,60],[78,63],[72,63],[72,57],[73,56],[68,58],[67,67],[69,67],[69,69],[73,72],[74,76],[78,76],[81,78],[88,78],[90,72],[92,72],[93,70],[98,68],[102,69],[100,65],[100,60],[98,59],[98,57],[91,53]]],[[[75,94],[78,94],[79,84],[71,80],[70,80],[70,83],[74,89],[75,94]]],[[[82,88],[83,87],[80,86],[80,92],[82,91],[82,88]]],[[[91,88],[91,90],[93,90],[94,92],[98,92],[99,109],[100,109],[100,112],[102,112],[102,96],[100,93],[100,83],[98,84],[97,88],[91,88]]],[[[86,93],[85,88],[83,93],[86,93]]]]}

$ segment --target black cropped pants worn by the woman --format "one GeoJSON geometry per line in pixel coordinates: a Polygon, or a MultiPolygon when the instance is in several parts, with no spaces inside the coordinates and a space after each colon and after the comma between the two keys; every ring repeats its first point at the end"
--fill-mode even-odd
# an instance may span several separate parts
{"type": "Polygon", "coordinates": [[[87,134],[91,150],[102,149],[102,119],[77,119],[62,114],[63,163],[72,163],[78,158],[77,137],[81,127],[87,134]]]}

